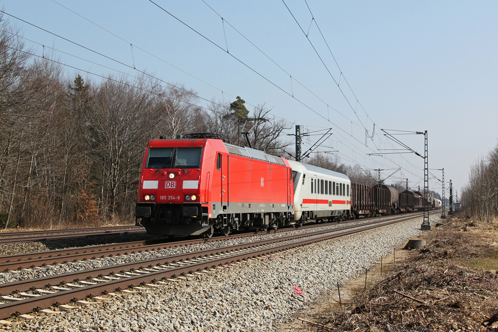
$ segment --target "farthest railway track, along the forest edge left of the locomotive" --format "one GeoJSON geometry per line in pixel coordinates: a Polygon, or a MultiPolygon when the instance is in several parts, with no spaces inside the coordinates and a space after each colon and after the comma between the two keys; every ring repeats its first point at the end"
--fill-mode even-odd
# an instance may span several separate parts
{"type": "Polygon", "coordinates": [[[0,233],[0,244],[21,243],[47,240],[60,240],[67,238],[96,236],[96,235],[114,235],[126,233],[145,233],[141,226],[108,226],[93,228],[71,228],[71,229],[51,229],[22,232],[5,232],[0,233]]]}

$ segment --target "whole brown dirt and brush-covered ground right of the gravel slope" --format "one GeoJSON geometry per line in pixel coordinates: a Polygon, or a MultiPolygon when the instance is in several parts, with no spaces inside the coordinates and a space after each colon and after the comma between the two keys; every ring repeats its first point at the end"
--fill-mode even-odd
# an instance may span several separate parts
{"type": "Polygon", "coordinates": [[[498,332],[498,223],[454,217],[322,294],[279,331],[498,332]]]}

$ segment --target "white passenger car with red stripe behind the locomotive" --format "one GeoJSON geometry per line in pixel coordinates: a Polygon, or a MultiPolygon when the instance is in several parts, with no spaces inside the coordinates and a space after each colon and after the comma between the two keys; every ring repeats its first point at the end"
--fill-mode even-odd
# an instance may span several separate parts
{"type": "Polygon", "coordinates": [[[349,217],[351,181],[341,173],[288,160],[294,180],[294,221],[349,217]]]}

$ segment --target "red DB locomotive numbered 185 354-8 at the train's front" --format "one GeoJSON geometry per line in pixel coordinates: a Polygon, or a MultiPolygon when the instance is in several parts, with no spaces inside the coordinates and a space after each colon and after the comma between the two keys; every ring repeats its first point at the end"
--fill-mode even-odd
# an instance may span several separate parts
{"type": "Polygon", "coordinates": [[[149,140],[137,187],[135,218],[149,234],[228,235],[294,213],[287,160],[220,139],[149,140]]]}

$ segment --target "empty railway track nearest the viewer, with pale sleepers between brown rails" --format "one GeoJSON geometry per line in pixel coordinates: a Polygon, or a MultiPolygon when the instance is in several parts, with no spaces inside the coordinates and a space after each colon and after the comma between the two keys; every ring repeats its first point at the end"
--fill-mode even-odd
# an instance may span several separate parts
{"type": "Polygon", "coordinates": [[[313,242],[418,217],[403,216],[389,221],[371,221],[359,225],[2,284],[0,285],[0,294],[2,294],[0,301],[4,303],[0,304],[0,319],[32,311],[50,312],[43,308],[59,306],[61,303],[71,303],[72,306],[62,307],[70,309],[77,302],[88,303],[84,299],[106,300],[118,291],[133,292],[134,288],[158,287],[161,283],[175,280],[172,278],[202,276],[223,269],[224,265],[242,264],[248,259],[258,259],[257,257],[272,255],[277,251],[292,250],[313,242]],[[94,296],[93,294],[105,295],[94,296]]]}

